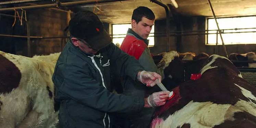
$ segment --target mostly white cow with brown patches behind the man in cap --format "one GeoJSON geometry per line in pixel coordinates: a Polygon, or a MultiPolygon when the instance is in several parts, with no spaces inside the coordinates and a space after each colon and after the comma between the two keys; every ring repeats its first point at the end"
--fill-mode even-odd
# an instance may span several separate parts
{"type": "Polygon", "coordinates": [[[31,58],[0,51],[0,128],[56,128],[51,78],[59,55],[31,58]]]}

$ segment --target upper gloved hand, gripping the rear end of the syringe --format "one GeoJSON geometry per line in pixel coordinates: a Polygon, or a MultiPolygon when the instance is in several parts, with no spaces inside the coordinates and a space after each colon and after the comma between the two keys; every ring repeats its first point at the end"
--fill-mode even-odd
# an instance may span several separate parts
{"type": "Polygon", "coordinates": [[[137,74],[137,79],[142,82],[143,84],[147,86],[155,86],[156,83],[154,82],[156,79],[159,79],[161,81],[161,76],[155,72],[138,72],[137,74]]]}

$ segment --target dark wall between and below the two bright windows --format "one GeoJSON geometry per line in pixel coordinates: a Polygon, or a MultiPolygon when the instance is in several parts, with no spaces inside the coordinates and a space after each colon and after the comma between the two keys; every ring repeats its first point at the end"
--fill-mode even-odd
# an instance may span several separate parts
{"type": "MultiPolygon", "coordinates": [[[[170,31],[197,31],[205,30],[205,17],[198,16],[178,16],[177,19],[170,21],[170,31]]],[[[155,21],[155,33],[166,32],[166,21],[155,21]]],[[[183,33],[185,34],[185,33],[183,33]]],[[[201,32],[202,34],[202,32],[201,32]]],[[[225,45],[228,54],[256,52],[256,44],[233,44],[225,45]]],[[[158,54],[166,52],[167,44],[166,37],[155,37],[155,46],[150,48],[150,52],[158,54]]],[[[215,54],[215,46],[205,45],[205,35],[192,35],[192,36],[171,36],[170,37],[170,50],[177,50],[183,52],[195,52],[196,54],[206,52],[208,54],[215,54]]],[[[225,55],[222,45],[218,46],[218,54],[225,55]]]]}

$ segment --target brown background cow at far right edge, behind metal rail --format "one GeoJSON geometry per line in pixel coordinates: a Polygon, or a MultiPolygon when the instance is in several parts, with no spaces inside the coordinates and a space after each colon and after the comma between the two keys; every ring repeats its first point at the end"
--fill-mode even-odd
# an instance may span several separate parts
{"type": "MultiPolygon", "coordinates": [[[[248,52],[245,54],[231,53],[229,54],[229,60],[235,61],[256,61],[255,52],[248,52]]],[[[256,67],[256,63],[247,63],[247,62],[234,62],[236,67],[256,67]]]]}

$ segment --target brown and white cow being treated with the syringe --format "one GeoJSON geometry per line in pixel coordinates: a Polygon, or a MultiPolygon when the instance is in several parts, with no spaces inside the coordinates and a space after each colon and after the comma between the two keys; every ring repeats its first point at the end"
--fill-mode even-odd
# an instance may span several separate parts
{"type": "MultiPolygon", "coordinates": [[[[172,55],[166,68],[179,57],[175,51],[172,55]]],[[[242,78],[234,64],[219,55],[198,60],[197,66],[193,64],[181,69],[172,67],[177,73],[199,71],[202,77],[172,89],[174,97],[156,108],[151,128],[255,128],[256,88],[242,78]]],[[[186,76],[172,76],[182,78],[186,76]]]]}

